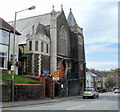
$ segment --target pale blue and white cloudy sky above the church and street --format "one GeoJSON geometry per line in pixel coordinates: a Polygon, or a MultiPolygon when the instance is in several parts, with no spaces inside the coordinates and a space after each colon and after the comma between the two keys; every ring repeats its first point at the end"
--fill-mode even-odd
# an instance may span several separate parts
{"type": "Polygon", "coordinates": [[[70,8],[77,24],[83,28],[86,66],[89,69],[118,68],[118,0],[1,0],[0,16],[13,21],[15,11],[30,6],[35,10],[17,14],[17,19],[50,13],[52,6],[66,18],[70,8]]]}

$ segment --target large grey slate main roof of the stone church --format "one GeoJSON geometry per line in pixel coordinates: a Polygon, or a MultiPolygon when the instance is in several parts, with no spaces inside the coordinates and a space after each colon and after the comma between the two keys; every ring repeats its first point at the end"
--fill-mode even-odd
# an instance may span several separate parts
{"type": "MultiPolygon", "coordinates": [[[[59,12],[56,12],[57,15],[59,15],[59,12]]],[[[26,35],[32,33],[33,26],[36,26],[38,23],[49,26],[50,25],[50,19],[51,19],[51,13],[28,17],[25,19],[17,20],[16,22],[16,29],[22,34],[20,38],[20,43],[24,44],[26,43],[26,35]]],[[[13,26],[13,22],[9,22],[13,26]]]]}

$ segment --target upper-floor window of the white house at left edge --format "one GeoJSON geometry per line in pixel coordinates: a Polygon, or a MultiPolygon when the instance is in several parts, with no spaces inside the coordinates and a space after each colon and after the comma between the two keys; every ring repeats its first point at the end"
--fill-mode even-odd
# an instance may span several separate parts
{"type": "Polygon", "coordinates": [[[9,32],[0,30],[0,43],[5,45],[9,44],[9,32]]]}

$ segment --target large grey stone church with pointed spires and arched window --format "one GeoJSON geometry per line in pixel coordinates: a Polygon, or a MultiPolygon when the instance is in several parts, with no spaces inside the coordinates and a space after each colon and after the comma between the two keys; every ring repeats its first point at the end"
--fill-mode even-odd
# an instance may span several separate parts
{"type": "Polygon", "coordinates": [[[67,18],[61,7],[58,12],[53,8],[50,13],[17,20],[17,30],[22,34],[19,40],[21,54],[26,56],[22,59],[21,74],[61,71],[60,80],[56,82],[58,96],[60,84],[64,85],[64,96],[79,94],[84,89],[83,29],[78,26],[71,9],[67,18]]]}

